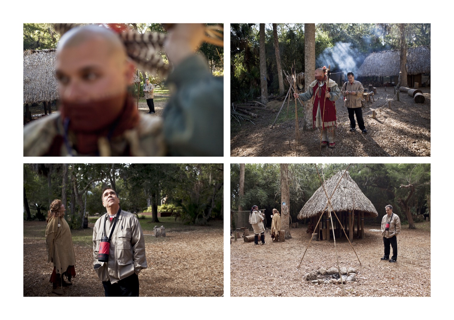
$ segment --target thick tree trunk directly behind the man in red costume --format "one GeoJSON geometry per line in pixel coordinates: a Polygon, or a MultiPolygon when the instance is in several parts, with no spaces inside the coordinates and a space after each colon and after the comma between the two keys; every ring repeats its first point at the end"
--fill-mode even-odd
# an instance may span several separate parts
{"type": "MultiPolygon", "coordinates": [[[[313,81],[315,72],[315,24],[304,24],[304,89],[309,88],[313,81]]],[[[311,100],[304,103],[304,118],[306,119],[306,129],[312,128],[312,108],[311,100]]]]}

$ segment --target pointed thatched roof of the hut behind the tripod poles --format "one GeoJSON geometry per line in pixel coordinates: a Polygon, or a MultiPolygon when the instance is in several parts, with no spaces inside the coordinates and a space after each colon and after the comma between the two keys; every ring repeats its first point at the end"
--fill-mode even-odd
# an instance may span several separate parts
{"type": "MultiPolygon", "coordinates": [[[[343,173],[343,171],[339,171],[330,179],[326,180],[325,188],[328,196],[331,196],[331,194],[333,193],[333,190],[336,187],[337,182],[339,182],[339,179],[341,178],[343,173]]],[[[298,213],[297,218],[302,220],[304,218],[314,217],[317,214],[322,213],[322,210],[326,206],[326,202],[328,202],[328,199],[326,198],[326,194],[323,191],[323,187],[320,187],[306,202],[300,213],[298,213]]],[[[374,205],[363,194],[356,182],[353,181],[348,171],[345,172],[345,175],[344,177],[342,177],[341,182],[339,182],[339,186],[337,186],[333,197],[331,197],[331,203],[336,213],[349,211],[354,208],[355,211],[364,211],[365,215],[374,217],[378,216],[378,212],[375,209],[374,205]],[[355,207],[353,207],[353,202],[355,202],[355,207]]]]}

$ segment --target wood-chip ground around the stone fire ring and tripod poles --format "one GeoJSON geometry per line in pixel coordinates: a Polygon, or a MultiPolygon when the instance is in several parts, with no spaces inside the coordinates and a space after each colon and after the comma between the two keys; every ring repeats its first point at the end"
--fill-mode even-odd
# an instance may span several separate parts
{"type": "MultiPolygon", "coordinates": [[[[398,259],[381,261],[383,238],[380,226],[365,226],[365,239],[354,238],[353,246],[361,265],[343,237],[336,240],[340,266],[357,269],[356,282],[345,284],[350,296],[430,296],[430,222],[417,224],[415,230],[402,226],[397,238],[398,259]]],[[[292,239],[255,246],[243,239],[230,246],[231,296],[342,296],[341,285],[314,285],[305,281],[307,272],[336,266],[332,241],[312,241],[306,256],[302,254],[310,240],[306,227],[291,229],[292,239]]]]}

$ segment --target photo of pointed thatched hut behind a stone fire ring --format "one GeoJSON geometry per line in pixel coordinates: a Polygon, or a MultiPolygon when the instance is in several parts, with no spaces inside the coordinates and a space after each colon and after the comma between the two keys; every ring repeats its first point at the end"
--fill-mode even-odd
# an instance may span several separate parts
{"type": "Polygon", "coordinates": [[[430,163],[232,163],[232,297],[431,296],[430,163]]]}

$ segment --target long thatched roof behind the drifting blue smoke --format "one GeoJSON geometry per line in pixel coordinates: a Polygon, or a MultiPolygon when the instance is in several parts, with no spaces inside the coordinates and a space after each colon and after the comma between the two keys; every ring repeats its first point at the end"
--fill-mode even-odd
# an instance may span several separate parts
{"type": "MultiPolygon", "coordinates": [[[[360,77],[385,77],[399,74],[400,50],[369,54],[357,71],[360,77]]],[[[407,49],[407,74],[430,73],[430,48],[421,46],[407,49]]]]}

